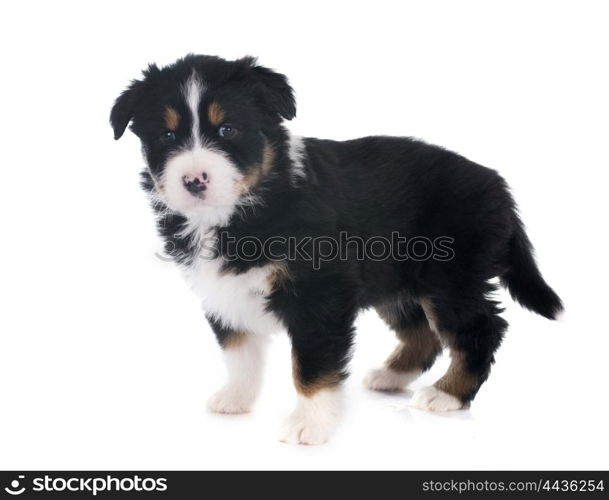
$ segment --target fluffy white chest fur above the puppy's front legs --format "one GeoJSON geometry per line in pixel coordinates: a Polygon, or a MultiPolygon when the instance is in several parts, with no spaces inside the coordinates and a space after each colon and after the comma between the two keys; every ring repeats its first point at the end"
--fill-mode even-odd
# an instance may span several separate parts
{"type": "Polygon", "coordinates": [[[222,272],[221,267],[221,259],[197,258],[184,269],[187,281],[203,299],[205,312],[235,330],[268,334],[281,329],[277,317],[266,310],[273,267],[242,274],[222,272]]]}

